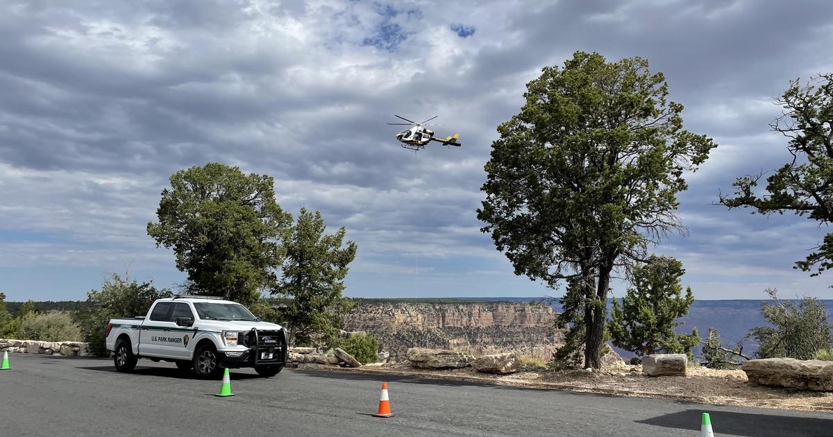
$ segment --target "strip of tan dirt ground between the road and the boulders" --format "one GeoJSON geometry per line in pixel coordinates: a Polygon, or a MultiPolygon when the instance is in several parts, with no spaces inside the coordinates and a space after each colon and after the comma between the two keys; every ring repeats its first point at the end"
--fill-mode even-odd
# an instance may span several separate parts
{"type": "Polygon", "coordinates": [[[752,385],[742,370],[712,370],[689,367],[688,375],[650,377],[641,375],[641,365],[621,365],[601,371],[548,370],[521,371],[511,375],[491,375],[471,368],[421,370],[404,365],[363,366],[371,372],[424,375],[442,379],[491,382],[561,390],[601,392],[611,395],[655,397],[713,405],[745,405],[787,410],[833,412],[833,393],[801,391],[752,385]]]}

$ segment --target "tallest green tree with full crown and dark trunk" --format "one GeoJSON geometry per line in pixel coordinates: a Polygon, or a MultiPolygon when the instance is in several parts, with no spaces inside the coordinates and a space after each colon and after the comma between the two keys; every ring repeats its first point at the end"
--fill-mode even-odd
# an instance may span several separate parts
{"type": "Polygon", "coordinates": [[[683,174],[715,144],[682,128],[682,105],[639,57],[576,52],[526,87],[521,112],[497,128],[477,216],[516,275],[552,288],[579,278],[568,292],[583,295],[571,301],[587,365],[599,367],[611,274],[679,227],[683,174]]]}

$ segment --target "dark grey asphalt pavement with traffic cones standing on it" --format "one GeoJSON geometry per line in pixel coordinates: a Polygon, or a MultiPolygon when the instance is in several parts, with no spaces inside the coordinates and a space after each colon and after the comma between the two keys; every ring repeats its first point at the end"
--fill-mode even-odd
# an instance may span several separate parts
{"type": "Polygon", "coordinates": [[[284,370],[264,379],[232,370],[196,380],[170,363],[10,354],[0,372],[0,436],[833,436],[833,415],[575,394],[447,380],[284,370]],[[393,413],[372,417],[382,381],[393,413]]]}

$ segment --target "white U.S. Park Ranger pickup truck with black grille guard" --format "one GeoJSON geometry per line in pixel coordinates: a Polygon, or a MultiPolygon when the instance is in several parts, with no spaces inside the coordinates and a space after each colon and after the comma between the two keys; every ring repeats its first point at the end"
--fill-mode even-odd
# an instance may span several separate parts
{"type": "Polygon", "coordinates": [[[231,300],[174,296],[153,302],[144,317],[110,320],[107,350],[120,372],[149,358],[193,368],[202,379],[220,377],[224,367],[254,367],[269,377],[287,363],[287,330],[231,300]]]}

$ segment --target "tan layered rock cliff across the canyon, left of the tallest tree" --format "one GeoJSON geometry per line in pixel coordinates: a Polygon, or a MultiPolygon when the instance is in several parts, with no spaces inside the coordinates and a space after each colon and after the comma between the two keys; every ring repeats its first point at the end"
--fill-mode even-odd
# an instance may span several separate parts
{"type": "Polygon", "coordinates": [[[392,356],[408,348],[454,348],[475,355],[516,351],[550,360],[563,344],[554,327],[556,313],[546,305],[483,303],[362,303],[344,318],[346,330],[376,336],[392,356]]]}

